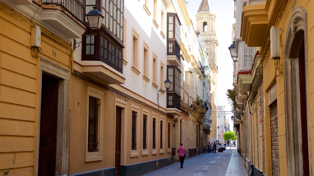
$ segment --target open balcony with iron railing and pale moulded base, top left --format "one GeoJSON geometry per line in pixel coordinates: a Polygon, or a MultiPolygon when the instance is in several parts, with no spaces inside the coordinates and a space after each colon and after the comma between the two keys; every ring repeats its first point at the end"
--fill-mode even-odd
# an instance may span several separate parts
{"type": "MultiPolygon", "coordinates": [[[[25,2],[25,0],[24,0],[25,2]]],[[[84,26],[85,0],[41,0],[39,18],[68,39],[81,38],[84,26]]]]}

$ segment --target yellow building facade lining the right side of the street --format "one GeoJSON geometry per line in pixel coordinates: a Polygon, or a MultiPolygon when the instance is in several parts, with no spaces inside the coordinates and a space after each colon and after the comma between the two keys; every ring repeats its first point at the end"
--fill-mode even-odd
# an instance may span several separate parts
{"type": "Polygon", "coordinates": [[[237,82],[240,90],[251,82],[239,128],[248,139],[239,148],[254,173],[312,175],[314,2],[247,1],[242,8],[241,38],[258,52],[237,82]]]}

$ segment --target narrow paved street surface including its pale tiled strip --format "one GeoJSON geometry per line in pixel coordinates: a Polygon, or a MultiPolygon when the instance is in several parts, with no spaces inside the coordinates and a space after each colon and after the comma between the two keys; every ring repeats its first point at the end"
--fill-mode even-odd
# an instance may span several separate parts
{"type": "Polygon", "coordinates": [[[204,153],[184,160],[183,168],[176,162],[145,176],[247,176],[240,155],[236,150],[217,153],[204,153]]]}

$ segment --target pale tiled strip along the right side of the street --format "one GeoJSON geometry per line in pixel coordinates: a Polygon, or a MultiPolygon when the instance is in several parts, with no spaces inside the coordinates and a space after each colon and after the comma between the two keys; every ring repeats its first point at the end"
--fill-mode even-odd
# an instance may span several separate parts
{"type": "Polygon", "coordinates": [[[243,161],[236,150],[232,151],[230,162],[225,176],[247,176],[243,161]]]}

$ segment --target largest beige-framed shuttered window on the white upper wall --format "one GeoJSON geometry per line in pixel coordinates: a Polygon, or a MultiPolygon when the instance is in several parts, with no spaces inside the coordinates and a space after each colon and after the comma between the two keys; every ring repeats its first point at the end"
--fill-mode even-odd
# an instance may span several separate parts
{"type": "Polygon", "coordinates": [[[137,75],[140,74],[138,71],[138,51],[139,51],[139,35],[138,33],[133,29],[133,38],[132,38],[132,65],[131,70],[136,73],[137,75]]]}

